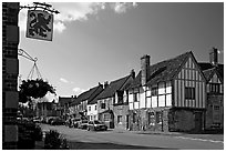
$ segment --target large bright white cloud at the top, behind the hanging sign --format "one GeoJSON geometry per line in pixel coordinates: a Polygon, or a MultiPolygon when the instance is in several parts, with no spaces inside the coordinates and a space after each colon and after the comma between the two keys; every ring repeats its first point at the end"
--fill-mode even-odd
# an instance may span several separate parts
{"type": "MultiPolygon", "coordinates": [[[[32,6],[32,2],[21,2],[21,6],[32,6]]],[[[89,16],[95,16],[99,11],[112,9],[116,13],[125,13],[129,9],[136,8],[135,2],[52,2],[52,8],[59,10],[54,14],[54,32],[62,33],[66,29],[66,23],[72,21],[86,21],[89,16]]],[[[28,9],[22,9],[19,13],[19,26],[21,31],[25,31],[28,9]]]]}

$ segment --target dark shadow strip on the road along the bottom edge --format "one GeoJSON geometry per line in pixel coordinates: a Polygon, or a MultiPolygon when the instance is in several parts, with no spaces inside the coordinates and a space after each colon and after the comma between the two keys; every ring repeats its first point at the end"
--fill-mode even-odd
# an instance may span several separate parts
{"type": "Polygon", "coordinates": [[[155,146],[124,145],[115,143],[91,143],[91,142],[69,142],[69,145],[70,150],[173,150],[155,146]]]}

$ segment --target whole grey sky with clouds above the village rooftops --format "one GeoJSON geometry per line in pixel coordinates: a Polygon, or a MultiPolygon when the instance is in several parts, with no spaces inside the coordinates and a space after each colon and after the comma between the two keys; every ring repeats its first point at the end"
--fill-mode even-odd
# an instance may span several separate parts
{"type": "MultiPolygon", "coordinates": [[[[154,64],[193,51],[198,62],[208,62],[208,51],[216,47],[224,62],[223,2],[49,3],[60,11],[54,14],[53,40],[25,38],[28,10],[23,9],[19,48],[38,58],[42,78],[60,97],[79,95],[132,69],[137,74],[144,54],[154,64]]],[[[32,65],[19,57],[22,80],[32,65]]]]}

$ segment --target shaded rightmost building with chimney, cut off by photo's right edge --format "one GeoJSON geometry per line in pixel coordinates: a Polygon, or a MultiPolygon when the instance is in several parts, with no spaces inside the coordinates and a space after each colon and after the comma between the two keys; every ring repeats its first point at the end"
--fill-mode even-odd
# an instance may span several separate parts
{"type": "Polygon", "coordinates": [[[209,51],[209,62],[199,62],[206,77],[206,116],[205,129],[224,129],[224,64],[218,63],[218,50],[209,51]]]}

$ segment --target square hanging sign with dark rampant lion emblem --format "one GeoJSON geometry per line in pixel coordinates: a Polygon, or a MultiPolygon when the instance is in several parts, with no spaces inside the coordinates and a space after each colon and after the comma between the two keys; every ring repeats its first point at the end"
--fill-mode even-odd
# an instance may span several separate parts
{"type": "Polygon", "coordinates": [[[27,38],[52,41],[53,14],[43,10],[29,10],[27,38]]]}

